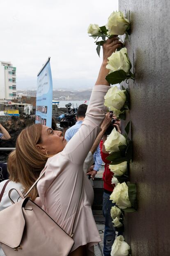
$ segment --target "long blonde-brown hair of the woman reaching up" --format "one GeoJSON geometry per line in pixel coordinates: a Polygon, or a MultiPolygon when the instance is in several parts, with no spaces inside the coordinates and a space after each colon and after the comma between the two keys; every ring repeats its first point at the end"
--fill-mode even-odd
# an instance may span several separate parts
{"type": "MultiPolygon", "coordinates": [[[[33,124],[26,127],[18,136],[16,150],[11,152],[7,162],[9,179],[20,182],[25,193],[39,177],[48,157],[36,145],[41,143],[42,124],[33,124]]],[[[37,197],[35,186],[28,195],[32,200],[37,197]]]]}

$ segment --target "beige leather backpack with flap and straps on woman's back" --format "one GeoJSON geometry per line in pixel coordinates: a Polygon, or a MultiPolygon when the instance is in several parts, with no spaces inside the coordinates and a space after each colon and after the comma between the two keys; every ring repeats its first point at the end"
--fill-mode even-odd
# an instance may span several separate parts
{"type": "MultiPolygon", "coordinates": [[[[44,173],[45,170],[30,190],[44,173]]],[[[9,191],[9,198],[12,190],[9,191]]],[[[44,210],[26,197],[28,193],[24,196],[21,191],[17,192],[22,200],[14,203],[10,198],[12,205],[0,211],[0,245],[5,255],[67,256],[74,245],[74,224],[68,235],[44,210]]],[[[79,209],[80,200],[76,216],[79,209]]]]}

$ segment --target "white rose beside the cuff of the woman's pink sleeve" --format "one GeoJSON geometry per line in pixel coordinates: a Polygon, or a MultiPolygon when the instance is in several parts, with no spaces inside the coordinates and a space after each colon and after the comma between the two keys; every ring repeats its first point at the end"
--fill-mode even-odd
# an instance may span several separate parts
{"type": "Polygon", "coordinates": [[[110,108],[110,110],[113,110],[114,108],[120,110],[126,101],[124,92],[126,92],[126,90],[120,90],[117,86],[111,87],[104,96],[104,105],[110,108]]]}

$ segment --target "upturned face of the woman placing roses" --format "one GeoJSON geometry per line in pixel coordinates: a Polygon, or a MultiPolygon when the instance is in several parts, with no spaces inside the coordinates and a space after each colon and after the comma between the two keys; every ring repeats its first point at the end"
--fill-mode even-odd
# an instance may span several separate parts
{"type": "Polygon", "coordinates": [[[41,143],[39,147],[47,153],[57,154],[61,152],[67,144],[62,132],[53,131],[52,128],[43,125],[41,132],[41,143]]]}

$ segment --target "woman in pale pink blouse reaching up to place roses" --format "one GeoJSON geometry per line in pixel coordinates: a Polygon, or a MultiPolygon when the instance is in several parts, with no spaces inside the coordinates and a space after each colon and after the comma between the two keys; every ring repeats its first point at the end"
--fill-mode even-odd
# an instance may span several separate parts
{"type": "Polygon", "coordinates": [[[16,143],[17,181],[26,192],[46,168],[30,197],[35,200],[38,193],[41,207],[68,234],[71,233],[74,223],[83,181],[80,210],[74,223],[75,244],[71,256],[92,256],[94,244],[101,241],[91,209],[93,189],[83,172],[83,163],[101,130],[100,124],[107,111],[103,105],[104,96],[109,89],[105,79],[108,74],[107,59],[121,45],[116,37],[108,39],[103,45],[103,63],[85,120],[68,143],[62,132],[53,131],[42,124],[34,124],[24,129],[16,143]]]}

